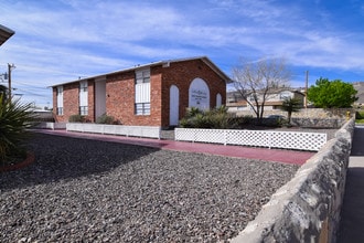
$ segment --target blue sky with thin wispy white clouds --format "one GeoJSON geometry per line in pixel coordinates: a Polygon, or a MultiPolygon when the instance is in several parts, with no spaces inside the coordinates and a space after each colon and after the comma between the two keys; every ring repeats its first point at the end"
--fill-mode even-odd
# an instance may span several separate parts
{"type": "Polygon", "coordinates": [[[54,84],[201,55],[229,76],[242,59],[283,57],[293,87],[306,71],[310,85],[364,81],[361,0],[1,0],[0,10],[15,31],[0,73],[14,63],[13,93],[40,106],[54,84]]]}

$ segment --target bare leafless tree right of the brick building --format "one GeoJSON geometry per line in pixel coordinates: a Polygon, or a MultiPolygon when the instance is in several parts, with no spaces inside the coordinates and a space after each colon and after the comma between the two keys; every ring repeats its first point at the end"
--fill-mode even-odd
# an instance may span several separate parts
{"type": "Polygon", "coordinates": [[[289,86],[290,76],[283,59],[240,61],[240,65],[233,68],[235,88],[259,120],[263,118],[266,102],[271,98],[272,93],[289,86]]]}

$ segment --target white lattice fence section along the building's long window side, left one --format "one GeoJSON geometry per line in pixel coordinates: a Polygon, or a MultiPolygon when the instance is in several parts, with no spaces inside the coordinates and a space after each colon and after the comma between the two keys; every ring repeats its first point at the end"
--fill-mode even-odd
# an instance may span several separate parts
{"type": "Polygon", "coordinates": [[[71,131],[110,134],[132,137],[161,138],[161,128],[153,126],[124,126],[105,124],[67,123],[66,129],[71,131]]]}

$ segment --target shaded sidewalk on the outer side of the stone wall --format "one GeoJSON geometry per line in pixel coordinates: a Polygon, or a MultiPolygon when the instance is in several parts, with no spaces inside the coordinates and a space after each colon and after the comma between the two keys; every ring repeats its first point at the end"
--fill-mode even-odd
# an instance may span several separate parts
{"type": "Polygon", "coordinates": [[[364,242],[364,126],[354,130],[338,242],[364,242]]]}

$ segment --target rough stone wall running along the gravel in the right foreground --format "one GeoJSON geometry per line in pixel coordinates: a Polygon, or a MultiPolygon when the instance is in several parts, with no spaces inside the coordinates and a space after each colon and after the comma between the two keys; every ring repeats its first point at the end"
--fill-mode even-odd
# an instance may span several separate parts
{"type": "Polygon", "coordinates": [[[232,242],[335,242],[354,126],[345,123],[232,242]]]}

